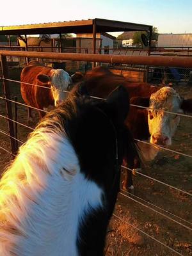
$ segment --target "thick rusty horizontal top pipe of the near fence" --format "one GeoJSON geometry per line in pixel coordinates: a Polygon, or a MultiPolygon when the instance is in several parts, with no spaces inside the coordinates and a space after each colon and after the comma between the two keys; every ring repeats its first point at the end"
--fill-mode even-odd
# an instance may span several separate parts
{"type": "Polygon", "coordinates": [[[163,67],[192,68],[192,58],[178,56],[119,56],[113,54],[84,54],[84,53],[60,53],[60,52],[20,52],[0,51],[3,56],[46,58],[54,60],[91,61],[103,63],[124,63],[163,67]]]}

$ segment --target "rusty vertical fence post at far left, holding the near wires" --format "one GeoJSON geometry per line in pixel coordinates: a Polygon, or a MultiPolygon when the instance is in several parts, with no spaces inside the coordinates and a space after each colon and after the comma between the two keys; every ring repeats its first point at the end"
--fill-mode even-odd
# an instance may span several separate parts
{"type": "MultiPolygon", "coordinates": [[[[6,61],[6,56],[3,56],[3,55],[1,55],[1,68],[3,73],[3,78],[8,78],[8,64],[6,61]]],[[[4,95],[6,99],[11,99],[9,82],[4,79],[3,79],[3,90],[4,90],[4,95]]],[[[6,115],[8,116],[9,119],[13,119],[12,102],[6,100],[5,104],[6,104],[6,115]]],[[[15,131],[14,131],[13,122],[11,120],[8,120],[8,127],[9,127],[10,136],[14,138],[15,131]]],[[[10,141],[11,141],[12,153],[15,154],[17,152],[17,147],[15,144],[15,140],[13,138],[10,138],[10,141]]]]}

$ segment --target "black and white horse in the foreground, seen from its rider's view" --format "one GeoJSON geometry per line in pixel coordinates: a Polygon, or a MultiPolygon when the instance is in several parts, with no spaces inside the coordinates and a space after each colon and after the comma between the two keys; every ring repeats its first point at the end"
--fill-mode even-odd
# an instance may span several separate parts
{"type": "Polygon", "coordinates": [[[2,256],[103,255],[120,164],[137,151],[126,90],[100,102],[82,91],[45,116],[1,179],[2,256]]]}

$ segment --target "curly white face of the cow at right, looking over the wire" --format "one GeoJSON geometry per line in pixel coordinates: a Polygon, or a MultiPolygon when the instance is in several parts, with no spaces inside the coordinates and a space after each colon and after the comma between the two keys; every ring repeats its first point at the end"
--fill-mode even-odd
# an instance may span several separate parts
{"type": "Polygon", "coordinates": [[[150,96],[148,109],[148,128],[150,132],[150,143],[158,145],[172,145],[172,136],[179,125],[180,116],[165,113],[171,111],[183,113],[180,106],[182,99],[171,87],[163,87],[150,96]],[[156,111],[153,109],[163,109],[156,111]]]}

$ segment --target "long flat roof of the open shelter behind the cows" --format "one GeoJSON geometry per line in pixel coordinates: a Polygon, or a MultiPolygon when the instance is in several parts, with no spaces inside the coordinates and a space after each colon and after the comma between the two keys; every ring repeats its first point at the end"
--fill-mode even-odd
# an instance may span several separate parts
{"type": "Polygon", "coordinates": [[[38,35],[60,33],[93,33],[93,24],[97,33],[118,31],[148,31],[150,25],[136,24],[106,19],[70,20],[64,22],[50,22],[19,26],[0,27],[0,35],[38,35]]]}

